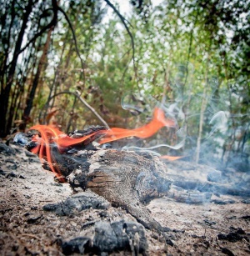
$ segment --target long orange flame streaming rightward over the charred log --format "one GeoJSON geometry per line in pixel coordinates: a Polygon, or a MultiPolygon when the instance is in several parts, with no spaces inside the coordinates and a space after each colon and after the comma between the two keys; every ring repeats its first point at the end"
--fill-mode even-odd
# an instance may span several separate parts
{"type": "Polygon", "coordinates": [[[56,164],[53,164],[50,145],[55,143],[60,153],[67,147],[76,145],[84,142],[87,138],[92,137],[96,134],[103,134],[103,138],[99,143],[108,143],[121,138],[128,137],[138,137],[138,138],[148,138],[157,133],[160,128],[164,126],[176,128],[177,124],[171,119],[165,118],[165,114],[162,109],[155,108],[153,113],[153,119],[150,123],[146,124],[141,128],[135,129],[124,129],[124,128],[111,128],[109,130],[99,130],[93,132],[82,138],[71,138],[67,134],[62,133],[57,128],[52,125],[35,125],[30,129],[35,129],[41,133],[41,138],[38,135],[33,136],[32,141],[37,142],[37,147],[32,148],[32,153],[39,154],[39,158],[42,162],[43,158],[47,158],[49,167],[57,175],[57,178],[62,178],[60,170],[57,168],[56,164]]]}

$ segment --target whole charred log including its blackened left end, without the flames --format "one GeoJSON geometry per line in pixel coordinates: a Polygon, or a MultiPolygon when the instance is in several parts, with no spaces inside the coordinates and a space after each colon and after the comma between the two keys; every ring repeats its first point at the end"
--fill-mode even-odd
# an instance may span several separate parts
{"type": "MultiPolygon", "coordinates": [[[[33,147],[37,147],[31,140],[32,133],[30,132],[25,139],[19,136],[16,142],[20,140],[24,144],[28,140],[25,147],[32,150],[33,147]]],[[[81,133],[72,133],[71,136],[81,136],[81,133]]],[[[83,133],[86,134],[84,131],[83,133]]],[[[95,138],[90,137],[90,141],[95,138]]],[[[97,148],[86,142],[74,148],[63,148],[61,152],[55,143],[51,143],[49,147],[52,167],[60,170],[63,179],[67,180],[74,192],[90,189],[105,198],[112,206],[127,210],[145,228],[162,230],[160,224],[151,218],[148,208],[143,205],[153,198],[167,194],[172,183],[167,176],[165,164],[159,158],[149,153],[140,155],[128,151],[97,148]]],[[[49,168],[51,165],[46,163],[46,148],[42,150],[44,152],[41,155],[45,160],[43,166],[49,168]]]]}

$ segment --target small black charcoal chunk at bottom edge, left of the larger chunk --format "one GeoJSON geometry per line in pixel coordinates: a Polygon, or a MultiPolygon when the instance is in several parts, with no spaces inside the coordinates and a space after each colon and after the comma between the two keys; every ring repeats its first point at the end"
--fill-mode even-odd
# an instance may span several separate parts
{"type": "Polygon", "coordinates": [[[72,253],[83,254],[90,247],[90,238],[77,237],[69,241],[63,241],[61,247],[62,253],[65,255],[70,255],[72,253]]]}

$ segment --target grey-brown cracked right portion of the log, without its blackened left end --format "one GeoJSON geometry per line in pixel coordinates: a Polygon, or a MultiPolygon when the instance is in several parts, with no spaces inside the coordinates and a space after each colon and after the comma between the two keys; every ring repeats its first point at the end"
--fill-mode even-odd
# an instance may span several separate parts
{"type": "Polygon", "coordinates": [[[67,176],[72,188],[89,188],[113,206],[125,208],[144,227],[160,228],[143,203],[168,192],[171,180],[163,163],[151,156],[145,158],[137,153],[112,149],[100,149],[85,159],[83,168],[67,176]]]}

